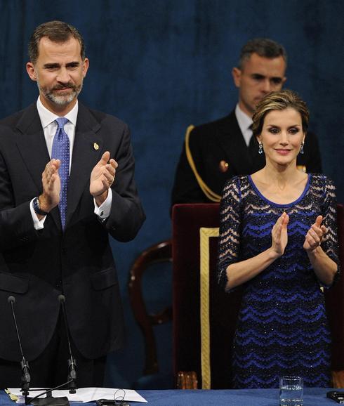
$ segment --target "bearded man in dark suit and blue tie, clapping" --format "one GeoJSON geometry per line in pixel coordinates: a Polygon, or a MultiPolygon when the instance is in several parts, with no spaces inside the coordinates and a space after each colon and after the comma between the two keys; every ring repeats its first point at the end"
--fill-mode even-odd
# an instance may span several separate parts
{"type": "Polygon", "coordinates": [[[128,126],[77,100],[84,52],[71,25],[39,25],[27,63],[37,103],[0,122],[0,388],[19,386],[21,376],[10,295],[31,386],[67,380],[60,294],[79,387],[102,386],[105,356],[124,341],[109,235],[132,240],[145,214],[128,126]],[[58,140],[67,145],[62,155],[58,140]]]}

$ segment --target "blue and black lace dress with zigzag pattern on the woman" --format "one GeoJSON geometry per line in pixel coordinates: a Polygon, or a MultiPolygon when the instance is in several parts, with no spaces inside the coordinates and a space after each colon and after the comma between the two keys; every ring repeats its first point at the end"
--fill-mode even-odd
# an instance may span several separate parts
{"type": "MultiPolygon", "coordinates": [[[[319,214],[327,233],[322,249],[338,263],[336,195],[324,175],[309,175],[293,203],[276,204],[260,194],[251,176],[227,181],[220,205],[218,279],[226,268],[271,247],[271,230],[289,214],[284,255],[244,284],[234,336],[234,388],[274,388],[279,377],[302,376],[305,386],[330,385],[331,338],[321,284],[303,249],[319,214]]],[[[230,275],[229,275],[230,278],[230,275]]]]}

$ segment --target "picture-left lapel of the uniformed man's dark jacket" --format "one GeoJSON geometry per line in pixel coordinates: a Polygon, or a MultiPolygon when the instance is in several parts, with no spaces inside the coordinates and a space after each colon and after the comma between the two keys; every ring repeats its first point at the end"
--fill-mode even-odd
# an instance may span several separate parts
{"type": "Polygon", "coordinates": [[[215,136],[222,145],[228,164],[234,168],[234,173],[246,173],[252,166],[252,159],[234,110],[221,122],[215,136]]]}

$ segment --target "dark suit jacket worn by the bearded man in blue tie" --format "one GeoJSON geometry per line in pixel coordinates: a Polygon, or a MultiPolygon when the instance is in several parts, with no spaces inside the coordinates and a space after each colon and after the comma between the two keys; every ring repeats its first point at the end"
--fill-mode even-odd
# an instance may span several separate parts
{"type": "Polygon", "coordinates": [[[79,103],[67,223],[62,233],[55,207],[34,229],[30,200],[41,194],[41,173],[49,161],[36,105],[0,122],[0,358],[20,360],[7,298],[15,296],[22,346],[28,360],[48,344],[66,297],[70,333],[79,351],[98,358],[121,346],[123,315],[117,271],[108,234],[135,237],[145,214],[133,180],[134,159],[128,126],[79,103]],[[94,148],[94,143],[99,149],[94,148]],[[110,217],[95,216],[89,179],[109,150],[119,166],[112,185],[110,217]]]}

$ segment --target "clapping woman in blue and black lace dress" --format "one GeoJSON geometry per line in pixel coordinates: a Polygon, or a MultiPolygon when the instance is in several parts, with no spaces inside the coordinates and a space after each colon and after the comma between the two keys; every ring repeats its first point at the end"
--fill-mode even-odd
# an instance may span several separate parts
{"type": "Polygon", "coordinates": [[[253,115],[263,169],[227,181],[220,205],[218,279],[244,284],[234,336],[234,388],[274,388],[279,377],[330,385],[331,338],[321,287],[338,275],[336,195],[324,175],[296,167],[307,106],[272,92],[253,115]]]}

